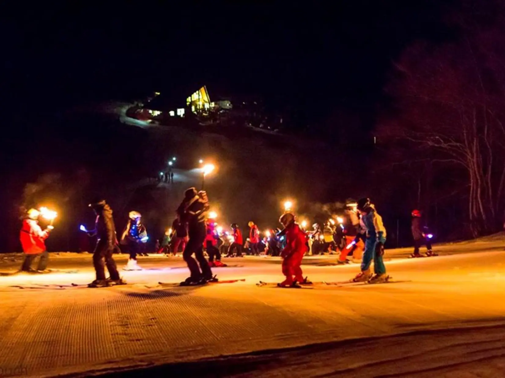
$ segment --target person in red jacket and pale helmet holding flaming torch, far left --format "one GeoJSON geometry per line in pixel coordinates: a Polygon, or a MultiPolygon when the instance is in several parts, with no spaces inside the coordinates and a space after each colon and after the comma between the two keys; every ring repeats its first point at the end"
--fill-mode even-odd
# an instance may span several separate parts
{"type": "Polygon", "coordinates": [[[23,252],[25,258],[23,260],[23,265],[21,266],[21,271],[30,273],[48,273],[47,260],[49,254],[45,247],[45,239],[49,237],[49,232],[54,228],[52,225],[48,225],[45,230],[38,225],[38,217],[40,212],[35,209],[28,210],[28,218],[23,220],[23,225],[21,226],[21,231],[19,232],[19,239],[21,241],[21,246],[23,247],[23,252]],[[31,265],[33,260],[39,257],[37,269],[32,269],[31,265]]]}

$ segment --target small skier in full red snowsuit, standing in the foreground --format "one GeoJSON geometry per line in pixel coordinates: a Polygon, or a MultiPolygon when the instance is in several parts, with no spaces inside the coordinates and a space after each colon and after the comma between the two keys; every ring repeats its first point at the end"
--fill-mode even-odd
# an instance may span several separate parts
{"type": "Polygon", "coordinates": [[[280,219],[280,223],[284,226],[286,246],[281,252],[282,257],[282,274],[286,279],[279,286],[289,287],[298,283],[304,283],[305,279],[300,268],[301,259],[304,258],[307,252],[307,238],[305,232],[301,231],[300,227],[294,221],[294,215],[284,213],[280,219]],[[294,276],[294,280],[293,280],[294,276]]]}

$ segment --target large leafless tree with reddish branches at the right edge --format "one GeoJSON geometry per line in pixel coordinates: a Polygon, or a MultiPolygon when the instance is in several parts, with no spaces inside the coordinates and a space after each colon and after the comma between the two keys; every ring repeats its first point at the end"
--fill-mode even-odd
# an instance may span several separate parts
{"type": "Polygon", "coordinates": [[[416,43],[395,63],[386,90],[397,112],[378,133],[410,146],[410,160],[430,153],[456,175],[466,172],[468,224],[477,236],[496,231],[505,211],[505,29],[458,22],[458,41],[416,43]]]}

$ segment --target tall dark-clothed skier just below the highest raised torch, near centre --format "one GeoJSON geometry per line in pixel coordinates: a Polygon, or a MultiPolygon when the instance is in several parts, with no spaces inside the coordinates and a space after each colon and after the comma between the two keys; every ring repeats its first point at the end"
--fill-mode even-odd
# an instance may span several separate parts
{"type": "Polygon", "coordinates": [[[209,210],[209,200],[204,191],[196,192],[190,187],[184,192],[184,200],[177,209],[177,214],[183,223],[188,224],[189,240],[184,248],[182,257],[188,265],[191,275],[181,282],[181,286],[201,285],[211,280],[217,280],[212,276],[211,268],[204,257],[204,241],[206,237],[205,214],[209,210]],[[198,264],[191,257],[195,255],[198,264]]]}

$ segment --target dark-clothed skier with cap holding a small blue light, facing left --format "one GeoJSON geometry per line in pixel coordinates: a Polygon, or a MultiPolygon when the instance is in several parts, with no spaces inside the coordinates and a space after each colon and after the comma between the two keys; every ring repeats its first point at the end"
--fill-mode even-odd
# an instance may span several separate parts
{"type": "Polygon", "coordinates": [[[96,272],[96,279],[91,282],[89,287],[104,287],[110,284],[124,285],[125,281],[119,277],[116,262],[112,254],[115,249],[119,249],[116,237],[116,227],[112,217],[112,209],[103,199],[98,199],[89,204],[96,214],[94,230],[87,231],[88,236],[97,236],[95,250],[93,252],[93,267],[96,272]],[[110,278],[105,278],[105,265],[109,271],[110,278]]]}

